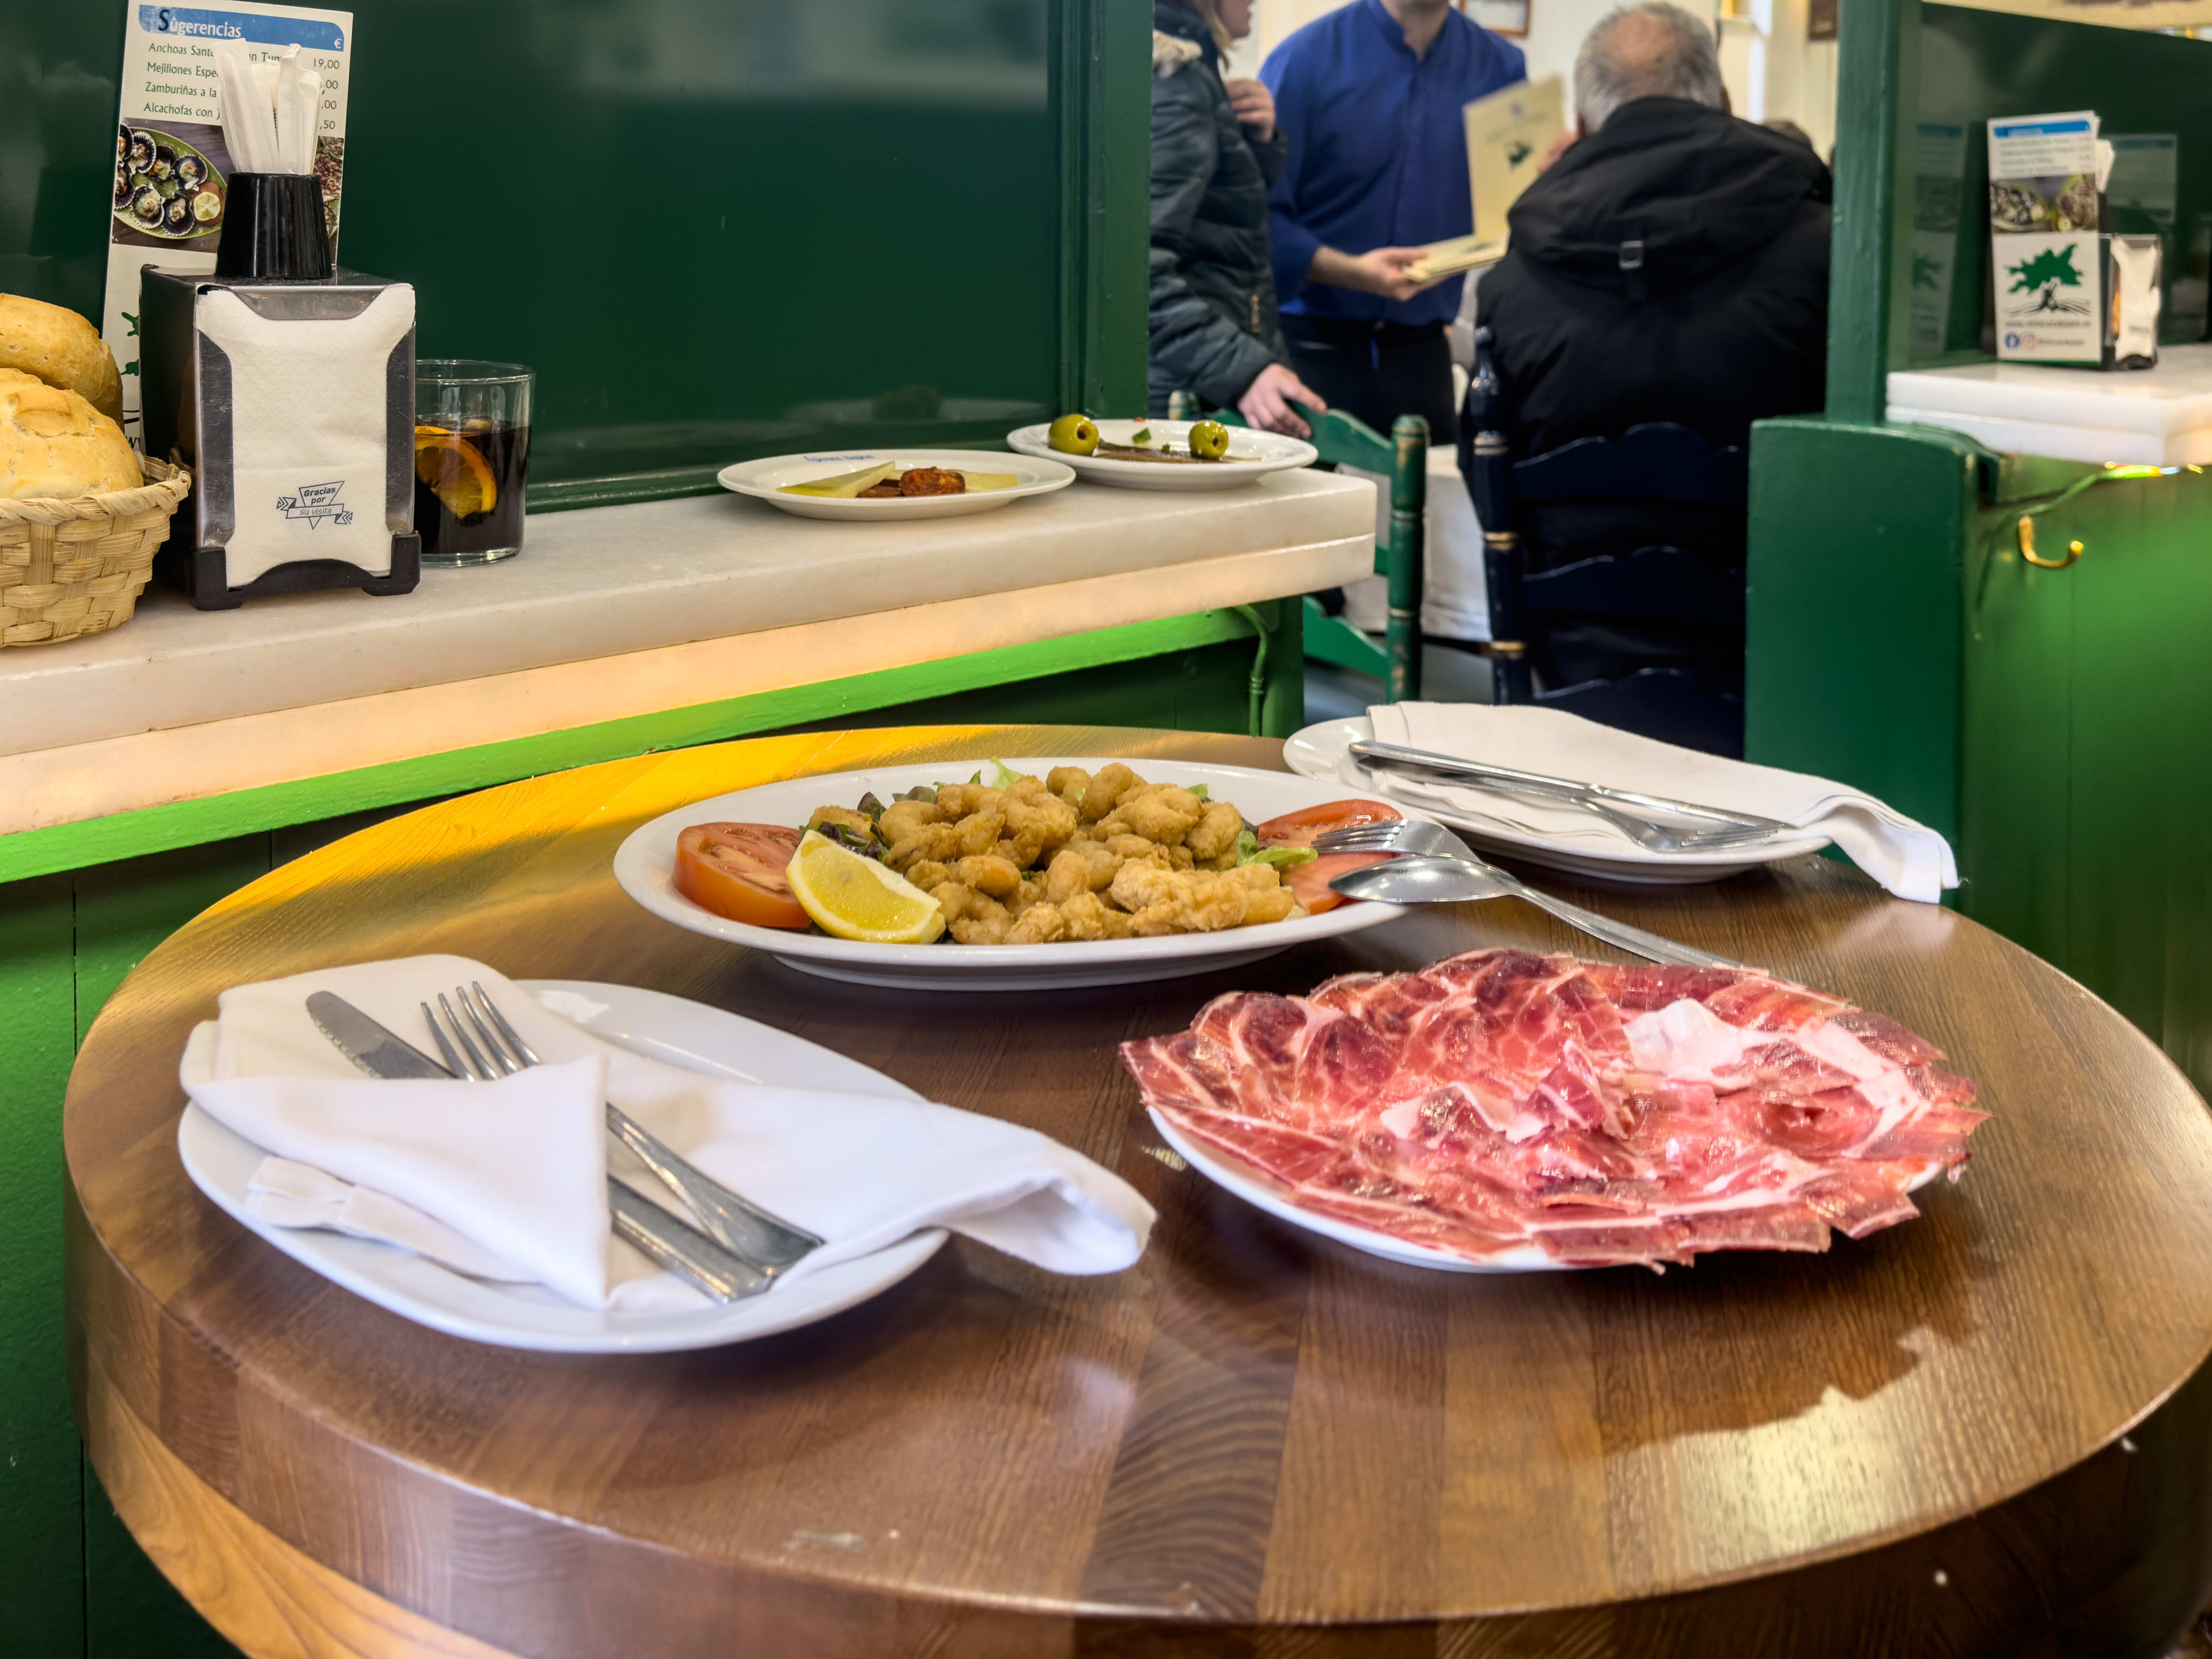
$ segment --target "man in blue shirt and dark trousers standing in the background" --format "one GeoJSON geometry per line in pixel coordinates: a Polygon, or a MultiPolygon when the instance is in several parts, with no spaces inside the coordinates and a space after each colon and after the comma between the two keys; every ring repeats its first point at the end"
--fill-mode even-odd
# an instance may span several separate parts
{"type": "Polygon", "coordinates": [[[1526,80],[1520,49],[1451,0],[1354,0],[1259,75],[1290,139],[1267,228],[1292,367],[1376,431],[1418,414],[1451,442],[1444,327],[1464,279],[1418,283],[1405,268],[1475,228],[1460,111],[1526,80]]]}

